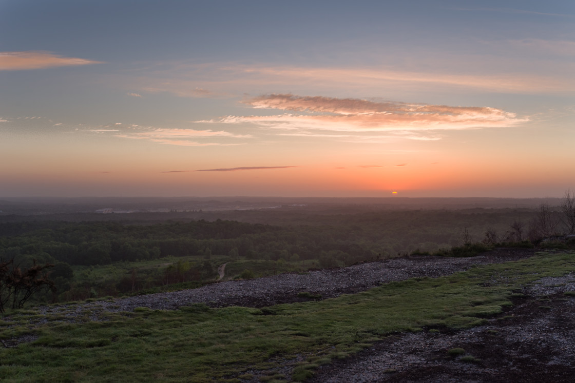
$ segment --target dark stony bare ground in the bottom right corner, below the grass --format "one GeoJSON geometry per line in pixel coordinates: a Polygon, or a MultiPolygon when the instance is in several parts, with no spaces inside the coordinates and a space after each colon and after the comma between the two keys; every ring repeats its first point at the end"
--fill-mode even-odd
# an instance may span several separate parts
{"type": "Polygon", "coordinates": [[[389,336],[310,382],[573,382],[575,298],[565,291],[575,291],[574,274],[542,278],[485,326],[389,336]],[[448,356],[455,347],[466,353],[448,356]]]}

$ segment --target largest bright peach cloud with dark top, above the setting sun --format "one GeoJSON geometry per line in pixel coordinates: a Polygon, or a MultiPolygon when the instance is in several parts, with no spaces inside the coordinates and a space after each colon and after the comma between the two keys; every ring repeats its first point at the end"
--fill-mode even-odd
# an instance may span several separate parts
{"type": "MultiPolygon", "coordinates": [[[[275,109],[290,113],[275,115],[226,116],[197,122],[252,123],[269,129],[296,130],[296,134],[314,134],[309,130],[346,132],[463,130],[482,127],[508,127],[527,122],[515,113],[493,107],[447,106],[405,102],[373,102],[354,98],[263,95],[244,100],[254,109],[275,109]],[[296,112],[296,113],[293,113],[296,112]],[[299,131],[297,131],[299,130],[299,131]],[[304,131],[305,133],[301,133],[304,131]]],[[[317,134],[317,132],[315,132],[317,134]]],[[[437,137],[404,138],[436,140],[437,137]]]]}

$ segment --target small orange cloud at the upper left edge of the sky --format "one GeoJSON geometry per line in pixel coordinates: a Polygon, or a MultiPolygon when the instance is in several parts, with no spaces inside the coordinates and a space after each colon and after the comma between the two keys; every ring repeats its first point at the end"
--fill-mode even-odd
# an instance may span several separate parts
{"type": "Polygon", "coordinates": [[[43,69],[89,64],[103,64],[103,62],[78,59],[77,57],[63,57],[43,51],[0,52],[0,71],[18,71],[21,69],[43,69]]]}

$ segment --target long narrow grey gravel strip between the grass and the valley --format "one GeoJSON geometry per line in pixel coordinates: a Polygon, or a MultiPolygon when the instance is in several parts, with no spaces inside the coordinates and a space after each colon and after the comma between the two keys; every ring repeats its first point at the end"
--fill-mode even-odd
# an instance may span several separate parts
{"type": "MultiPolygon", "coordinates": [[[[193,303],[205,303],[211,307],[229,305],[265,307],[305,300],[297,297],[299,292],[310,292],[327,299],[344,293],[365,291],[391,281],[424,276],[438,277],[468,269],[471,265],[515,261],[533,254],[534,251],[530,249],[499,249],[471,258],[431,256],[392,258],[346,268],[226,281],[183,291],[95,301],[77,305],[76,310],[103,308],[107,311],[133,311],[136,307],[176,310],[178,307],[193,303]]],[[[59,308],[45,307],[44,314],[59,311],[59,308]]]]}

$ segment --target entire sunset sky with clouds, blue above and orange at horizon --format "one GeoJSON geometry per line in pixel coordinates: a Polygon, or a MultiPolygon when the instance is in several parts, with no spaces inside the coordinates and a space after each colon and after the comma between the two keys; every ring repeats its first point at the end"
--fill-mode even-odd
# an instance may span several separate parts
{"type": "Polygon", "coordinates": [[[561,196],[574,27],[572,0],[0,0],[0,198],[561,196]]]}

